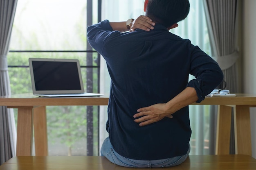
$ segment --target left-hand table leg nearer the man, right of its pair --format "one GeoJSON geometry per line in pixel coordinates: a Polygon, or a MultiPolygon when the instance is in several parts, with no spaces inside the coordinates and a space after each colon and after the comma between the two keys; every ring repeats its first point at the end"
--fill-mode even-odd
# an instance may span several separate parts
{"type": "Polygon", "coordinates": [[[34,108],[34,137],[36,156],[48,156],[46,107],[34,108]]]}

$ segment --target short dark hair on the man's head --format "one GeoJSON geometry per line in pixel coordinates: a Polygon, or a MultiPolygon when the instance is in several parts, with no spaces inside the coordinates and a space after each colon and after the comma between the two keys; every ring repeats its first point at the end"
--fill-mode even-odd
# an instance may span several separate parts
{"type": "Polygon", "coordinates": [[[189,14],[189,0],[148,0],[146,15],[166,26],[184,20],[189,14]]]}

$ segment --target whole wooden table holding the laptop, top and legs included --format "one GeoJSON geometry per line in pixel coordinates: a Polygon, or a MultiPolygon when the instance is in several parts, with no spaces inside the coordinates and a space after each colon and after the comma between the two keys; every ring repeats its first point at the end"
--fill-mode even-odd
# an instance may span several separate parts
{"type": "MultiPolygon", "coordinates": [[[[0,96],[0,106],[18,108],[17,156],[32,155],[34,125],[36,156],[47,156],[46,106],[108,105],[108,97],[39,98],[31,94],[0,96]]],[[[249,108],[256,107],[256,96],[207,97],[192,105],[219,105],[216,154],[229,154],[231,110],[234,108],[236,154],[252,155],[249,108]]]]}

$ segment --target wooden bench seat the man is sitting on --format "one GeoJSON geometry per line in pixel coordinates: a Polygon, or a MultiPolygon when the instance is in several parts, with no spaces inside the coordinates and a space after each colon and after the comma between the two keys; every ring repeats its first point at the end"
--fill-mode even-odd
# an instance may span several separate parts
{"type": "MultiPolygon", "coordinates": [[[[248,155],[191,155],[179,166],[164,170],[255,170],[248,155]]],[[[143,168],[152,169],[152,168],[143,168]]],[[[153,168],[163,170],[163,168],[153,168]]],[[[13,157],[0,170],[134,170],[117,166],[106,157],[13,157]]]]}

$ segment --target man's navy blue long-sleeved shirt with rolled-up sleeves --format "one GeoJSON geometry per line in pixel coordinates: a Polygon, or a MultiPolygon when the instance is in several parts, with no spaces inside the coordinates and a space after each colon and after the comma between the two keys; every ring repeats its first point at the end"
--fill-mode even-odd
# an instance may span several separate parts
{"type": "Polygon", "coordinates": [[[105,20],[88,27],[88,41],[106,60],[111,77],[106,129],[115,151],[139,160],[186,154],[191,136],[188,106],[172,119],[142,127],[133,115],[141,107],[168,102],[188,86],[201,102],[223,79],[218,64],[161,24],[149,32],[120,33],[105,20]],[[189,74],[195,79],[189,81],[189,74]]]}

